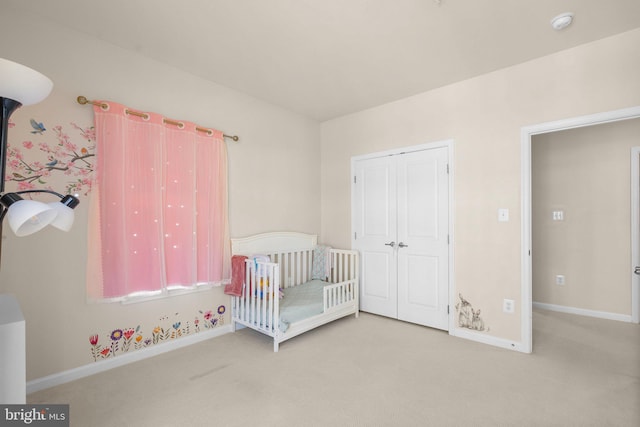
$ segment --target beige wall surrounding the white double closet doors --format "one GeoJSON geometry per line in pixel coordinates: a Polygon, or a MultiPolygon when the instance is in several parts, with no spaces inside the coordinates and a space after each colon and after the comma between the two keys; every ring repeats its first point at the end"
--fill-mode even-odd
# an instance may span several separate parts
{"type": "Polygon", "coordinates": [[[639,45],[634,30],[323,123],[322,240],[350,244],[352,156],[453,139],[453,292],[482,310],[487,335],[520,342],[520,130],[640,105],[639,45]]]}

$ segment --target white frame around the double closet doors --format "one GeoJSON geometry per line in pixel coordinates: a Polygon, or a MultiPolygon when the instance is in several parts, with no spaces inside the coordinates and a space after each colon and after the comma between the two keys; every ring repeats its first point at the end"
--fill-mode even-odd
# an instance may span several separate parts
{"type": "MultiPolygon", "coordinates": [[[[419,145],[411,145],[408,147],[401,147],[401,148],[393,148],[390,150],[385,150],[385,151],[378,151],[378,152],[374,152],[374,153],[368,153],[368,154],[362,154],[362,155],[358,155],[358,156],[353,156],[351,157],[351,177],[355,176],[355,163],[357,161],[361,161],[361,160],[368,160],[368,159],[375,159],[378,157],[386,157],[386,156],[393,156],[393,155],[398,155],[398,154],[404,154],[404,153],[412,153],[415,151],[424,151],[424,150],[431,150],[431,149],[435,149],[435,148],[447,148],[447,164],[448,166],[448,174],[447,174],[447,185],[448,185],[448,205],[447,205],[447,217],[448,217],[448,231],[447,233],[449,234],[449,247],[448,247],[448,253],[447,256],[449,258],[449,267],[448,267],[448,306],[449,306],[449,327],[447,332],[449,333],[449,335],[451,335],[453,328],[453,325],[455,325],[454,320],[455,320],[455,316],[454,316],[454,312],[455,310],[453,310],[452,308],[454,307],[455,301],[454,301],[454,276],[453,276],[453,272],[454,272],[454,260],[453,260],[453,254],[454,254],[454,237],[453,237],[453,230],[454,230],[454,226],[453,226],[453,195],[454,195],[454,191],[453,191],[453,172],[455,171],[454,167],[453,167],[453,139],[445,139],[445,140],[441,140],[441,141],[435,141],[435,142],[429,142],[429,143],[425,143],[425,144],[419,144],[419,145]]],[[[352,185],[353,185],[353,180],[352,180],[352,185]]],[[[354,194],[353,194],[353,187],[351,187],[351,248],[353,249],[355,247],[355,239],[354,239],[354,230],[355,230],[355,215],[354,212],[356,212],[356,208],[355,208],[355,203],[356,200],[354,198],[354,194]]]]}

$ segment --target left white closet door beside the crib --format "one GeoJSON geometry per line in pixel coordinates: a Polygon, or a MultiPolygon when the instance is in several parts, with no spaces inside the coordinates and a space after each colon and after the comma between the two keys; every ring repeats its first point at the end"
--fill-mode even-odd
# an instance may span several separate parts
{"type": "Polygon", "coordinates": [[[360,252],[360,309],[398,316],[396,165],[391,157],[355,162],[354,249],[360,252]]]}

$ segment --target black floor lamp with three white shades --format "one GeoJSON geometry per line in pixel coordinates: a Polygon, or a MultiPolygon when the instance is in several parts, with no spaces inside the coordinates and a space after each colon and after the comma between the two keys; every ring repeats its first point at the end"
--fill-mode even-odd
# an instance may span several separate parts
{"type": "Polygon", "coordinates": [[[35,233],[48,224],[69,231],[74,219],[73,209],[80,203],[76,196],[64,196],[51,190],[4,192],[9,117],[18,107],[45,99],[52,88],[53,82],[46,76],[0,58],[0,230],[6,216],[17,236],[35,233]],[[49,193],[61,200],[49,204],[24,200],[20,194],[26,193],[49,193]]]}

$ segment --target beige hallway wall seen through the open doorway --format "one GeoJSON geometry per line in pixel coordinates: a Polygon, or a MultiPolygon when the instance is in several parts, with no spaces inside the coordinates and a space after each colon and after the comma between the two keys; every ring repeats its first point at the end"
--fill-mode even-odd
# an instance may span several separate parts
{"type": "Polygon", "coordinates": [[[634,146],[640,119],[532,138],[534,301],[631,315],[634,146]]]}

